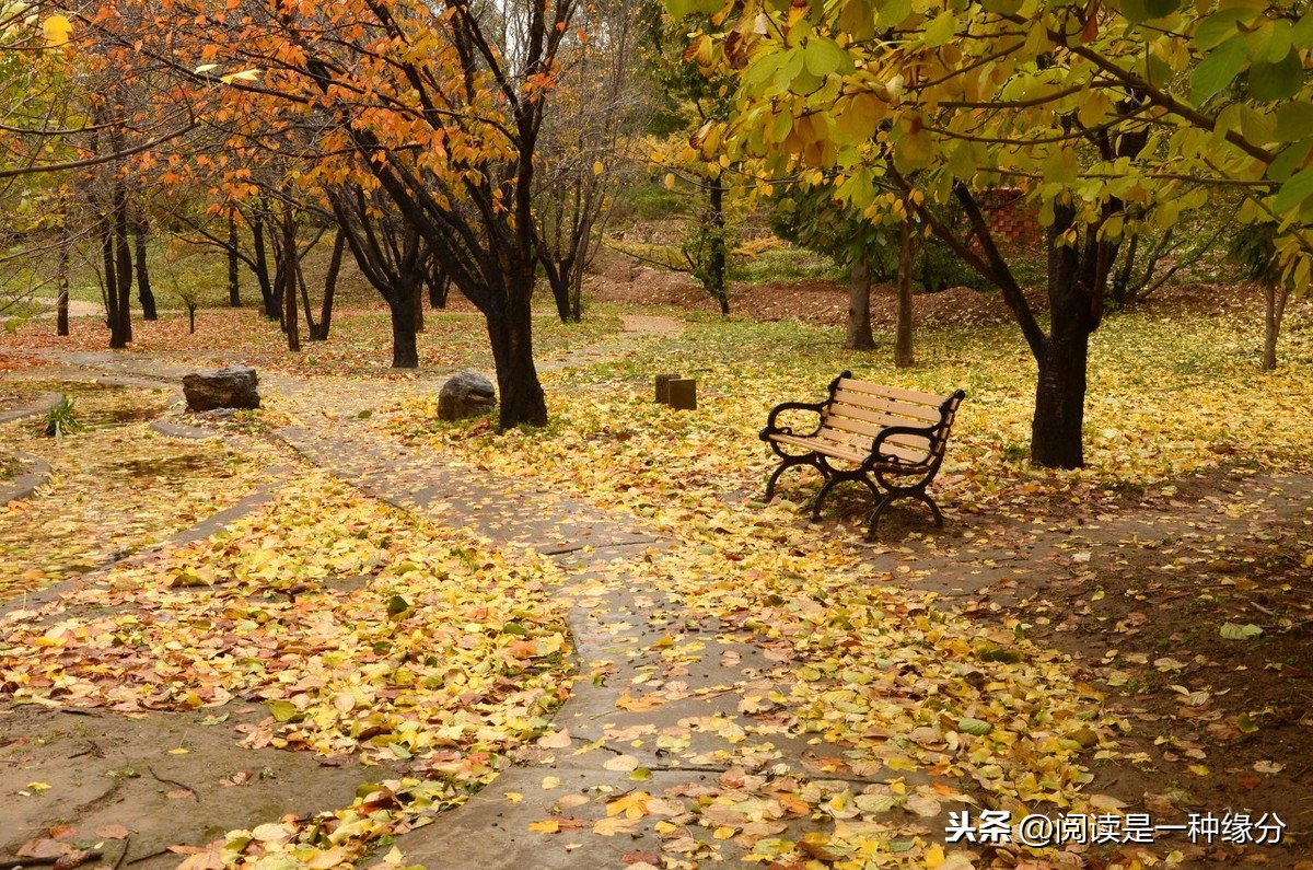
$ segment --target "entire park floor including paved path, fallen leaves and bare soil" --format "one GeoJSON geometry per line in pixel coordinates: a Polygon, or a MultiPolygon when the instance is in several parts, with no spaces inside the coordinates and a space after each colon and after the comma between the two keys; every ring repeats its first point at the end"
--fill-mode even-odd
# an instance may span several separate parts
{"type": "MultiPolygon", "coordinates": [[[[730,376],[776,352],[786,365],[793,327],[729,347],[678,279],[608,273],[590,292],[667,308],[575,334],[545,319],[549,394],[578,398],[548,432],[502,440],[432,423],[445,375],[487,367],[460,314],[431,323],[418,376],[381,368],[364,338],[289,360],[227,321],[209,343],[146,325],[144,350],[117,355],[93,318],[66,344],[33,325],[0,339],[0,414],[67,393],[92,423],[62,444],[33,418],[0,424],[17,457],[0,503],[37,460],[51,473],[0,513],[0,861],[1313,866],[1306,398],[1289,435],[1259,419],[1207,435],[1191,418],[1197,443],[1170,463],[1153,452],[1170,432],[1130,432],[1138,407],[1092,411],[1095,456],[1162,467],[1113,480],[1019,470],[1025,396],[1016,410],[969,385],[947,528],[895,513],[868,545],[859,493],[818,524],[801,472],[793,501],[750,501],[767,468],[756,403],[823,380],[762,397],[730,376]],[[181,373],[239,359],[261,367],[264,410],[180,410],[181,373]],[[704,417],[649,409],[645,380],[671,367],[701,378],[704,417]],[[1264,446],[1281,461],[1257,461],[1264,446]],[[356,673],[382,662],[436,682],[411,697],[395,670],[356,673]],[[1287,829],[1280,846],[945,844],[947,813],[968,807],[1275,812],[1287,829]]],[[[734,304],[822,323],[847,305],[821,283],[734,304]]],[[[1150,317],[1251,304],[1186,288],[1150,317]]],[[[888,293],[874,309],[892,319],[888,293]]],[[[918,298],[918,322],[983,329],[1006,311],[958,288],[918,298]]],[[[818,371],[844,359],[817,355],[818,371]]],[[[1183,365],[1169,368],[1209,377],[1183,365]]]]}

